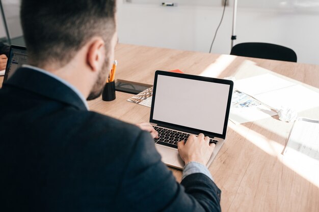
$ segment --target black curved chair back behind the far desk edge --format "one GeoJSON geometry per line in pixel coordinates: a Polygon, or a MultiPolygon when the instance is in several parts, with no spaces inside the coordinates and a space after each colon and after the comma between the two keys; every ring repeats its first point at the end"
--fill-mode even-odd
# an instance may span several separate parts
{"type": "Polygon", "coordinates": [[[293,49],[271,43],[240,43],[232,47],[231,55],[297,62],[293,49]]]}

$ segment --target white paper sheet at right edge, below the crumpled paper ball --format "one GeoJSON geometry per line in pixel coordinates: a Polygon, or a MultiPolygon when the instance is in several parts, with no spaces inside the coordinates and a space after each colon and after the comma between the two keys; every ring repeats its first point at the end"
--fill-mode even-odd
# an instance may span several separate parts
{"type": "Polygon", "coordinates": [[[319,164],[319,120],[298,118],[290,131],[283,155],[319,164]]]}

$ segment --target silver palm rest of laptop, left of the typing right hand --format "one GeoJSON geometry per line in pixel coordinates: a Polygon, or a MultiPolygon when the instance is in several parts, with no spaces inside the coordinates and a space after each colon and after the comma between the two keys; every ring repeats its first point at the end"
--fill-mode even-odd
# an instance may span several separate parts
{"type": "Polygon", "coordinates": [[[167,148],[161,145],[155,145],[158,153],[162,156],[162,161],[168,166],[183,169],[184,162],[181,160],[178,150],[173,148],[167,148]]]}

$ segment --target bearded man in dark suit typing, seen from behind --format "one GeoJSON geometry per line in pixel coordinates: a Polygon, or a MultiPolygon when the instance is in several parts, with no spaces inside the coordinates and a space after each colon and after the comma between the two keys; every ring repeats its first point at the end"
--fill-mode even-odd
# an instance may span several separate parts
{"type": "Polygon", "coordinates": [[[0,211],[220,211],[208,137],[178,143],[178,184],[151,126],[89,111],[114,59],[114,1],[22,0],[20,14],[31,66],[0,90],[0,211]]]}

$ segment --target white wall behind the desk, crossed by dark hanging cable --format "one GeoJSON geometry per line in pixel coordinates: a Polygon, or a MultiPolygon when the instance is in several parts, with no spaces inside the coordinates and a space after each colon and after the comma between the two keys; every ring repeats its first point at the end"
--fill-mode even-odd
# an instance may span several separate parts
{"type": "MultiPolygon", "coordinates": [[[[240,2],[240,1],[239,1],[240,2]]],[[[238,3],[240,4],[240,3],[238,3]]],[[[161,7],[118,1],[121,43],[208,52],[222,7],[161,7]]],[[[298,62],[319,65],[317,10],[252,9],[239,7],[237,41],[269,42],[296,51],[298,62]]],[[[232,7],[227,7],[213,53],[229,54],[232,7]]]]}

